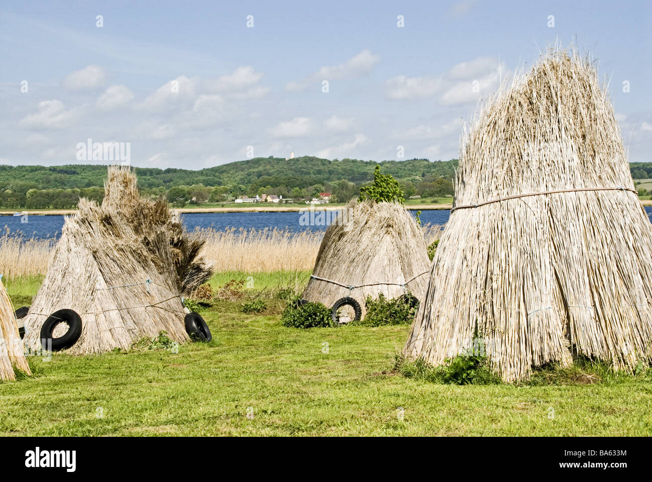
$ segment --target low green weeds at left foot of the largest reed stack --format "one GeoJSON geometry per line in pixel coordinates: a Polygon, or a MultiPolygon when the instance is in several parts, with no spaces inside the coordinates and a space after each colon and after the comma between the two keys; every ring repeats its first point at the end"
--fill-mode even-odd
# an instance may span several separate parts
{"type": "Polygon", "coordinates": [[[396,357],[396,370],[403,376],[422,379],[432,383],[451,385],[496,385],[501,378],[487,366],[485,357],[458,355],[446,359],[439,366],[432,366],[423,359],[408,362],[396,357]]]}

